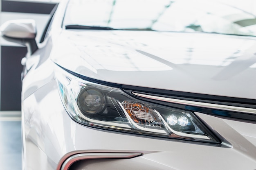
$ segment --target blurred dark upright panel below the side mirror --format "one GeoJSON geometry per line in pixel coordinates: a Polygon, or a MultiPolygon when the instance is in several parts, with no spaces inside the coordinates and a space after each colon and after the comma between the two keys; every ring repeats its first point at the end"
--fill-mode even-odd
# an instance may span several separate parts
{"type": "Polygon", "coordinates": [[[1,46],[1,111],[21,109],[20,61],[26,53],[26,47],[1,46]]]}

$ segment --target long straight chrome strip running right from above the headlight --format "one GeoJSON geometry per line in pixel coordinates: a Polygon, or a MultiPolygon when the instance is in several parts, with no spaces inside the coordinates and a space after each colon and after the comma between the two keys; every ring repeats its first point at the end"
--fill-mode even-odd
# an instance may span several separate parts
{"type": "Polygon", "coordinates": [[[195,106],[195,107],[206,107],[209,109],[220,109],[225,111],[237,111],[242,113],[251,113],[256,114],[256,109],[252,108],[246,108],[246,107],[236,107],[236,106],[228,106],[228,105],[218,105],[218,104],[212,104],[212,103],[204,103],[204,102],[194,102],[189,100],[180,100],[180,99],[174,99],[174,98],[166,98],[166,97],[160,97],[160,96],[152,96],[148,94],[139,94],[132,92],[132,94],[144,98],[149,98],[153,100],[160,100],[164,102],[171,102],[175,104],[181,104],[181,105],[189,105],[189,106],[195,106]]]}

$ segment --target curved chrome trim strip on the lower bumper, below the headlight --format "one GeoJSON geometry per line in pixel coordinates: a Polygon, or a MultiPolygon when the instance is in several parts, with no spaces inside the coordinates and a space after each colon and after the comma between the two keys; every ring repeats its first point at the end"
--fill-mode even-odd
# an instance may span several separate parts
{"type": "Polygon", "coordinates": [[[128,159],[143,155],[142,153],[79,153],[70,156],[64,161],[61,166],[61,170],[68,170],[70,166],[80,160],[85,159],[128,159]]]}

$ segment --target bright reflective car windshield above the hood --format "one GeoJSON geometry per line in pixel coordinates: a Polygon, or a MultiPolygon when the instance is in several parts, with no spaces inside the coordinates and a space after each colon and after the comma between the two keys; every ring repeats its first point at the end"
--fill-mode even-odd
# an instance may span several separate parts
{"type": "Polygon", "coordinates": [[[67,29],[204,32],[256,36],[256,16],[211,0],[70,0],[67,29]]]}

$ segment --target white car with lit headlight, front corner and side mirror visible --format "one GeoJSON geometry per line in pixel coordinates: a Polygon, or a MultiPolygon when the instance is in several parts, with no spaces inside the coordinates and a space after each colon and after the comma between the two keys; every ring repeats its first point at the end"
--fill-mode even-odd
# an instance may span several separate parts
{"type": "Polygon", "coordinates": [[[25,44],[24,170],[255,170],[256,17],[209,0],[63,0],[25,44]]]}

